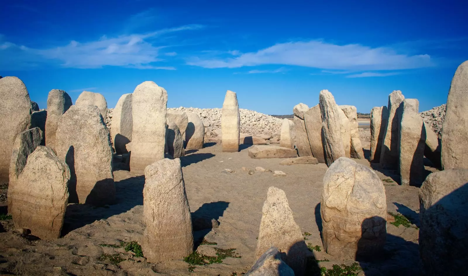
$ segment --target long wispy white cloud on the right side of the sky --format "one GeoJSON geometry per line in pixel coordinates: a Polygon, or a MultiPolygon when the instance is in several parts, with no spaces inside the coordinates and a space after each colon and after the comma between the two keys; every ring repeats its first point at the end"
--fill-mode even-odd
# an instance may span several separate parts
{"type": "Polygon", "coordinates": [[[371,48],[360,44],[337,45],[322,41],[275,44],[256,52],[230,58],[199,58],[187,64],[205,68],[239,68],[267,64],[297,65],[328,70],[401,70],[433,66],[431,57],[398,54],[392,48],[371,48]]]}

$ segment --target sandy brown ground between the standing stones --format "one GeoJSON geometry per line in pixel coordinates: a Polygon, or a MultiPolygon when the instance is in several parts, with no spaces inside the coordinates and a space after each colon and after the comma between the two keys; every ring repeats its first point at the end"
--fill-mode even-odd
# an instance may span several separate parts
{"type": "MultiPolygon", "coordinates": [[[[283,189],[295,221],[306,236],[306,243],[322,247],[320,238],[320,195],[322,178],[327,167],[318,165],[281,166],[280,159],[254,160],[248,156],[248,146],[238,153],[223,153],[221,145],[206,143],[202,150],[188,151],[181,158],[183,177],[190,211],[215,218],[219,227],[194,232],[198,252],[215,255],[214,247],[236,248],[241,258],[227,258],[222,264],[197,266],[189,272],[183,260],[147,263],[117,245],[121,241],[140,243],[145,225],[142,221],[144,176],[116,170],[114,178],[118,203],[95,208],[85,204],[70,204],[66,211],[63,238],[38,240],[14,230],[11,220],[1,221],[0,274],[8,275],[241,275],[256,261],[255,248],[262,206],[270,186],[283,189]],[[273,173],[249,175],[241,167],[261,166],[281,170],[285,177],[273,173]],[[225,169],[233,170],[228,173],[225,169]],[[4,232],[1,232],[4,231],[4,232]],[[199,245],[206,239],[217,245],[199,245]],[[112,264],[103,254],[119,254],[122,260],[112,264]]],[[[368,154],[369,141],[363,139],[368,154]]],[[[356,160],[370,167],[367,160],[356,160]]],[[[118,166],[116,166],[118,167],[118,166]]],[[[381,179],[395,177],[395,172],[376,171],[381,179]],[[390,176],[390,177],[389,177],[390,176]]],[[[388,211],[411,217],[414,228],[387,224],[387,244],[384,254],[373,261],[359,262],[364,271],[359,275],[419,275],[418,253],[418,188],[384,182],[388,211]]],[[[1,187],[0,187],[1,188],[1,187]]],[[[5,188],[5,187],[3,187],[5,188]]],[[[6,189],[2,189],[1,194],[6,189]]],[[[2,207],[5,212],[6,206],[2,207]]],[[[177,225],[174,225],[177,227],[177,225]]],[[[323,249],[323,247],[322,247],[323,249]]],[[[352,260],[335,260],[322,250],[314,251],[320,266],[351,264],[352,260]]],[[[105,255],[104,255],[105,256],[105,255]]]]}

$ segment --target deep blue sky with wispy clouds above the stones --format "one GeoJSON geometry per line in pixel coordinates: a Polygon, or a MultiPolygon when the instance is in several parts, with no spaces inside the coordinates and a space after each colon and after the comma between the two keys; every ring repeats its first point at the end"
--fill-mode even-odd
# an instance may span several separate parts
{"type": "Polygon", "coordinates": [[[145,80],[168,107],[292,114],[328,89],[368,113],[402,90],[420,111],[446,102],[468,59],[467,1],[22,1],[0,9],[0,75],[46,107],[51,89],[114,107],[145,80]],[[326,3],[325,3],[326,2],[326,3]]]}

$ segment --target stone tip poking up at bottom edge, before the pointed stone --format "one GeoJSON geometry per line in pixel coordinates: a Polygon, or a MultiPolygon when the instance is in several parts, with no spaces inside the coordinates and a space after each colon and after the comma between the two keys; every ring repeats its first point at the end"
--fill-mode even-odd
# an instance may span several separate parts
{"type": "Polygon", "coordinates": [[[270,247],[244,276],[294,276],[294,271],[281,260],[276,247],[270,247]]]}

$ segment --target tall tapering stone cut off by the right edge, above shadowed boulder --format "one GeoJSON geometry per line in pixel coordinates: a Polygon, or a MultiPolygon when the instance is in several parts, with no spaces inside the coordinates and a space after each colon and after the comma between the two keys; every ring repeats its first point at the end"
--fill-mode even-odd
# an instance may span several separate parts
{"type": "Polygon", "coordinates": [[[442,124],[442,168],[468,169],[468,60],[458,66],[442,124]]]}

